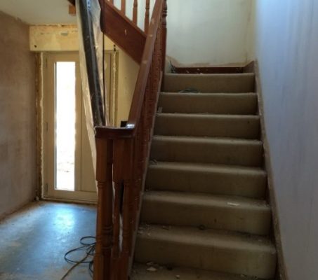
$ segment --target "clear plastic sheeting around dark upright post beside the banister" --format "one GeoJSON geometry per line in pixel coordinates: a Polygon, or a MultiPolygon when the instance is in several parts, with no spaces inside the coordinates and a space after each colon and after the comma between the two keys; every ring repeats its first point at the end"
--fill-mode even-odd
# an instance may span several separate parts
{"type": "Polygon", "coordinates": [[[96,146],[94,127],[108,125],[107,92],[103,84],[103,44],[100,29],[98,0],[76,0],[77,27],[79,30],[79,57],[81,84],[84,96],[86,126],[90,141],[93,167],[96,172],[96,146]]]}

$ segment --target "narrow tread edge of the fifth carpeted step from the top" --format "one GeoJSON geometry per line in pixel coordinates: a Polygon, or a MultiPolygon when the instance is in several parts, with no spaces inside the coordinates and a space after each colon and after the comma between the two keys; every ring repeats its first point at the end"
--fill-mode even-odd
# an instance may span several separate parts
{"type": "Polygon", "coordinates": [[[255,174],[266,176],[267,173],[263,168],[260,167],[244,167],[239,165],[216,165],[211,163],[197,163],[197,162],[154,162],[150,160],[150,168],[172,168],[172,169],[183,169],[191,171],[218,171],[227,173],[240,173],[240,174],[255,174]]]}

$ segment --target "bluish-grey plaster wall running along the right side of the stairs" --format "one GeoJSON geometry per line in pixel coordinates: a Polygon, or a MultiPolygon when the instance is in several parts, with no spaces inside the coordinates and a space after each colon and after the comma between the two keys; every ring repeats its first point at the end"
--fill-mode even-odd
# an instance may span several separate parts
{"type": "Polygon", "coordinates": [[[318,279],[317,34],[317,1],[256,2],[256,55],[290,280],[318,279]]]}

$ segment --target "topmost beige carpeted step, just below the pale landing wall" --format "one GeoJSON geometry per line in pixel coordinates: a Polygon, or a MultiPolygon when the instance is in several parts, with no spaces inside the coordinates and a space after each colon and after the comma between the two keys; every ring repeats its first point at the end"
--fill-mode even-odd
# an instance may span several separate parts
{"type": "Polygon", "coordinates": [[[237,74],[173,74],[164,78],[164,92],[180,92],[192,88],[199,92],[254,92],[254,73],[237,74]]]}

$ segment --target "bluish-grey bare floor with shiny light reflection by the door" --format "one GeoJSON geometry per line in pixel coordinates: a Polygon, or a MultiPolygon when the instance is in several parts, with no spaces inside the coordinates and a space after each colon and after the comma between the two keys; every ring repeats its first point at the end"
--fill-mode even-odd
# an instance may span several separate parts
{"type": "MultiPolygon", "coordinates": [[[[59,280],[71,264],[64,254],[95,236],[95,207],[34,202],[0,222],[1,280],[59,280]]],[[[77,255],[80,260],[83,255],[77,255]]],[[[88,265],[79,265],[69,280],[88,280],[88,265]]]]}

